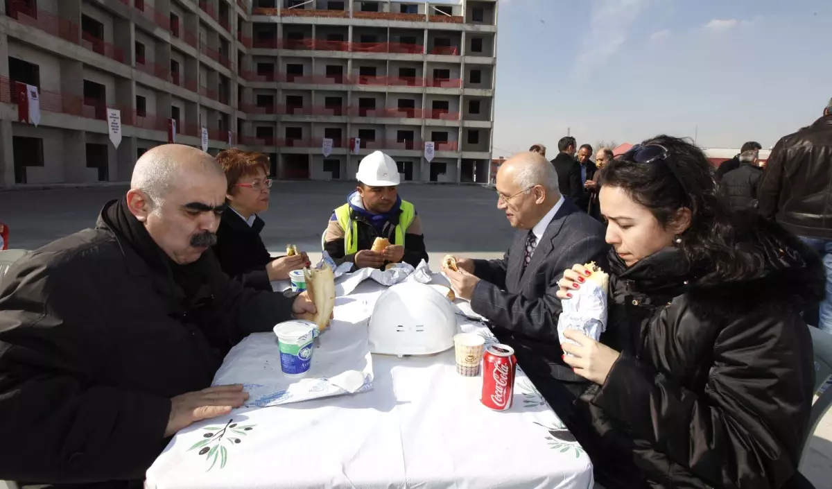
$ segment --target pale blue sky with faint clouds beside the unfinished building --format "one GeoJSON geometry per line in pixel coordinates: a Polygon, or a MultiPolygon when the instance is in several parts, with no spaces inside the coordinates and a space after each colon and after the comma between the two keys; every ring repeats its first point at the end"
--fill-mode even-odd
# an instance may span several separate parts
{"type": "Polygon", "coordinates": [[[498,0],[494,156],[696,133],[773,146],[832,97],[830,0],[498,0]]]}

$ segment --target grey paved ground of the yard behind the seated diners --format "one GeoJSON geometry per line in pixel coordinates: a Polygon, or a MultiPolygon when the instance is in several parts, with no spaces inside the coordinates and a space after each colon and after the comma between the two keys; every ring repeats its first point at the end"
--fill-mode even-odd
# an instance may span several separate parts
{"type": "MultiPolygon", "coordinates": [[[[275,252],[286,243],[301,249],[320,247],[320,235],[332,210],[354,185],[340,182],[276,182],[263,238],[275,252]]],[[[0,221],[11,229],[13,248],[33,249],[95,224],[107,200],[125,188],[86,188],[0,192],[0,221]]],[[[493,190],[479,186],[402,185],[404,199],[416,205],[434,268],[446,253],[479,258],[501,256],[513,230],[496,208],[493,190]]],[[[310,253],[312,259],[319,257],[310,253]]],[[[811,442],[803,472],[818,489],[832,487],[832,414],[821,422],[811,442]]]]}

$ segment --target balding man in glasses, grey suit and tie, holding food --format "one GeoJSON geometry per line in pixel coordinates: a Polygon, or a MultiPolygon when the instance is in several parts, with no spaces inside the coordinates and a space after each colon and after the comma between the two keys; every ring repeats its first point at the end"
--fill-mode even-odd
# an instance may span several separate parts
{"type": "Polygon", "coordinates": [[[457,257],[459,271],[443,264],[443,272],[458,296],[470,299],[474,312],[489,320],[500,341],[515,349],[523,371],[562,414],[568,395],[554,389],[566,386],[574,396],[586,383],[562,362],[557,281],[574,264],[606,264],[604,227],[563,198],[557,173],[537,153],[520,153],[503,163],[497,191],[498,209],[518,230],[511,248],[503,259],[457,257]]]}

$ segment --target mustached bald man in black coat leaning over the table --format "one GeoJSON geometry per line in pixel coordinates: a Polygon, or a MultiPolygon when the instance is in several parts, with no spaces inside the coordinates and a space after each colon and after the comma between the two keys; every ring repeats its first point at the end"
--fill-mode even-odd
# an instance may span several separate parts
{"type": "Polygon", "coordinates": [[[17,444],[0,457],[0,479],[141,487],[166,438],[245,401],[242,386],[210,388],[230,346],[314,305],[220,271],[209,248],[225,190],[210,155],[157,146],[95,229],[8,270],[0,419],[17,444]]]}

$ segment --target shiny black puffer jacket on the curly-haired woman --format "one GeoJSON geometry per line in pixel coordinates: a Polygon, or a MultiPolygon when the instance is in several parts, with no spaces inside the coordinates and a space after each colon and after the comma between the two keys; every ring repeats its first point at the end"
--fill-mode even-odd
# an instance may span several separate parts
{"type": "Polygon", "coordinates": [[[608,489],[796,487],[815,378],[800,309],[822,297],[824,269],[762,219],[737,249],[751,246],[764,271],[711,286],[681,249],[631,268],[611,251],[602,342],[622,354],[570,426],[608,489]]]}

